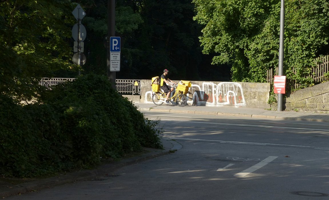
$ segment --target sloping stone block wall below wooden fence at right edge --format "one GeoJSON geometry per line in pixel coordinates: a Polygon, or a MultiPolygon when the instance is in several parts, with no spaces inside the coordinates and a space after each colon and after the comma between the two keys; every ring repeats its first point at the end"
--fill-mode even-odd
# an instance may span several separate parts
{"type": "Polygon", "coordinates": [[[328,112],[329,82],[286,94],[284,109],[300,112],[328,112]]]}

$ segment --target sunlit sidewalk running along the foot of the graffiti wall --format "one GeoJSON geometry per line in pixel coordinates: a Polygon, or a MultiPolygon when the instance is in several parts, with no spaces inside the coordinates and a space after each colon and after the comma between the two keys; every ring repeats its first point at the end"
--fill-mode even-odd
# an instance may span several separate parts
{"type": "Polygon", "coordinates": [[[317,121],[329,122],[329,113],[311,113],[311,112],[294,112],[294,111],[270,111],[259,108],[235,108],[235,107],[213,107],[213,106],[190,106],[179,107],[177,105],[161,106],[153,103],[135,103],[140,111],[151,112],[170,112],[170,113],[190,113],[190,114],[209,114],[224,115],[236,117],[255,117],[255,118],[271,118],[286,119],[300,121],[317,121]]]}

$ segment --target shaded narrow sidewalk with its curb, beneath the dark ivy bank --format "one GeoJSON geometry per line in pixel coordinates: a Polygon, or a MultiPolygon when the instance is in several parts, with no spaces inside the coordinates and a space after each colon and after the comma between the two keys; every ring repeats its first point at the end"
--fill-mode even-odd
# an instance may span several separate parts
{"type": "Polygon", "coordinates": [[[173,153],[182,148],[182,146],[171,139],[161,138],[164,149],[145,148],[140,155],[103,164],[92,170],[81,170],[59,174],[50,178],[0,178],[0,198],[10,197],[12,195],[20,195],[26,192],[39,191],[44,188],[54,187],[71,183],[75,181],[94,180],[100,177],[108,177],[113,175],[111,172],[121,167],[143,162],[152,158],[173,153]]]}

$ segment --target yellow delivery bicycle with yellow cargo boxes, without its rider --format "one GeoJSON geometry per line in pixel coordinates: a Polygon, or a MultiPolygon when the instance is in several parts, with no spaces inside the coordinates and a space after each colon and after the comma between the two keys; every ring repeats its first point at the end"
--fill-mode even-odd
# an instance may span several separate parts
{"type": "MultiPolygon", "coordinates": [[[[156,78],[156,77],[154,77],[156,78]]],[[[153,79],[152,79],[153,81],[153,79]]],[[[166,94],[160,89],[160,85],[154,84],[152,85],[152,91],[154,94],[152,95],[152,101],[155,105],[162,105],[165,102],[166,94]]],[[[168,99],[169,101],[174,101],[180,107],[183,107],[187,104],[187,96],[186,94],[190,93],[189,88],[191,87],[190,81],[181,81],[175,90],[175,93],[168,99]]]]}

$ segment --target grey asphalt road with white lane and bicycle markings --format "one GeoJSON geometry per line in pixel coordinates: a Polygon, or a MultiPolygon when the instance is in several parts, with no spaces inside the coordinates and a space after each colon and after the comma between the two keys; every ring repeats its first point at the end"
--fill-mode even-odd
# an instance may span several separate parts
{"type": "Polygon", "coordinates": [[[328,199],[329,123],[145,112],[183,148],[8,199],[328,199]]]}

